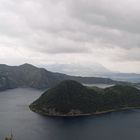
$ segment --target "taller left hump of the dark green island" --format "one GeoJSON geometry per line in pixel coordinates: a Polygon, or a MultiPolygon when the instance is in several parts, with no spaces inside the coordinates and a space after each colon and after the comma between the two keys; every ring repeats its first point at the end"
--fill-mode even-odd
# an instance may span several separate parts
{"type": "MultiPolygon", "coordinates": [[[[94,94],[97,93],[94,91],[94,94]]],[[[49,89],[30,107],[49,115],[80,114],[96,110],[92,102],[92,94],[80,83],[72,80],[61,82],[58,86],[49,89]]]]}

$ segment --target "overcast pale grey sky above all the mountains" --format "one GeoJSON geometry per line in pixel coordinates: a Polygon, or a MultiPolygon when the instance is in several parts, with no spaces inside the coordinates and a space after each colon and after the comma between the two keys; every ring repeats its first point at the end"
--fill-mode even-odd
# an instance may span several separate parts
{"type": "Polygon", "coordinates": [[[140,73],[140,1],[0,0],[0,63],[140,73]]]}

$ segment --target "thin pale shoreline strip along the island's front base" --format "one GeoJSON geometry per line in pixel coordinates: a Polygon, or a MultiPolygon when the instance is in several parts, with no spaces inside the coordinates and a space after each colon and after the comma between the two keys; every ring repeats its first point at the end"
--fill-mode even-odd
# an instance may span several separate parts
{"type": "Polygon", "coordinates": [[[103,115],[111,112],[119,112],[119,111],[127,111],[130,109],[140,109],[140,107],[124,107],[120,109],[110,109],[106,111],[96,111],[94,113],[85,113],[85,114],[48,114],[48,113],[43,113],[42,111],[37,111],[36,109],[29,107],[31,111],[38,113],[40,115],[46,116],[46,117],[86,117],[86,116],[98,116],[98,115],[103,115]]]}

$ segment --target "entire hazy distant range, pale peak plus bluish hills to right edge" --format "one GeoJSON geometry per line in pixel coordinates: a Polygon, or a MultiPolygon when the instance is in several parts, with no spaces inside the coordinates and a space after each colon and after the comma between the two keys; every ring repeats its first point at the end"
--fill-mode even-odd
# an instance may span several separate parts
{"type": "Polygon", "coordinates": [[[134,82],[140,83],[140,74],[137,73],[121,73],[121,72],[113,72],[111,70],[108,70],[103,65],[94,63],[90,66],[85,65],[74,65],[74,64],[49,64],[46,65],[46,68],[54,71],[54,72],[61,72],[69,75],[82,75],[82,76],[88,76],[88,77],[104,77],[104,78],[111,78],[113,80],[118,81],[128,81],[128,82],[134,82]]]}

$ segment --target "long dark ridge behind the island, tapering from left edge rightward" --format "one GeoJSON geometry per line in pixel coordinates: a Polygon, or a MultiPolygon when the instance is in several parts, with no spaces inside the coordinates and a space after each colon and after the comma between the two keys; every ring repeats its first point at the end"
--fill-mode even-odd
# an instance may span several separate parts
{"type": "Polygon", "coordinates": [[[100,77],[77,77],[61,73],[50,72],[44,68],[38,68],[30,64],[20,66],[0,65],[0,90],[31,87],[47,89],[55,86],[63,80],[76,80],[85,84],[115,84],[117,81],[100,77]]]}

